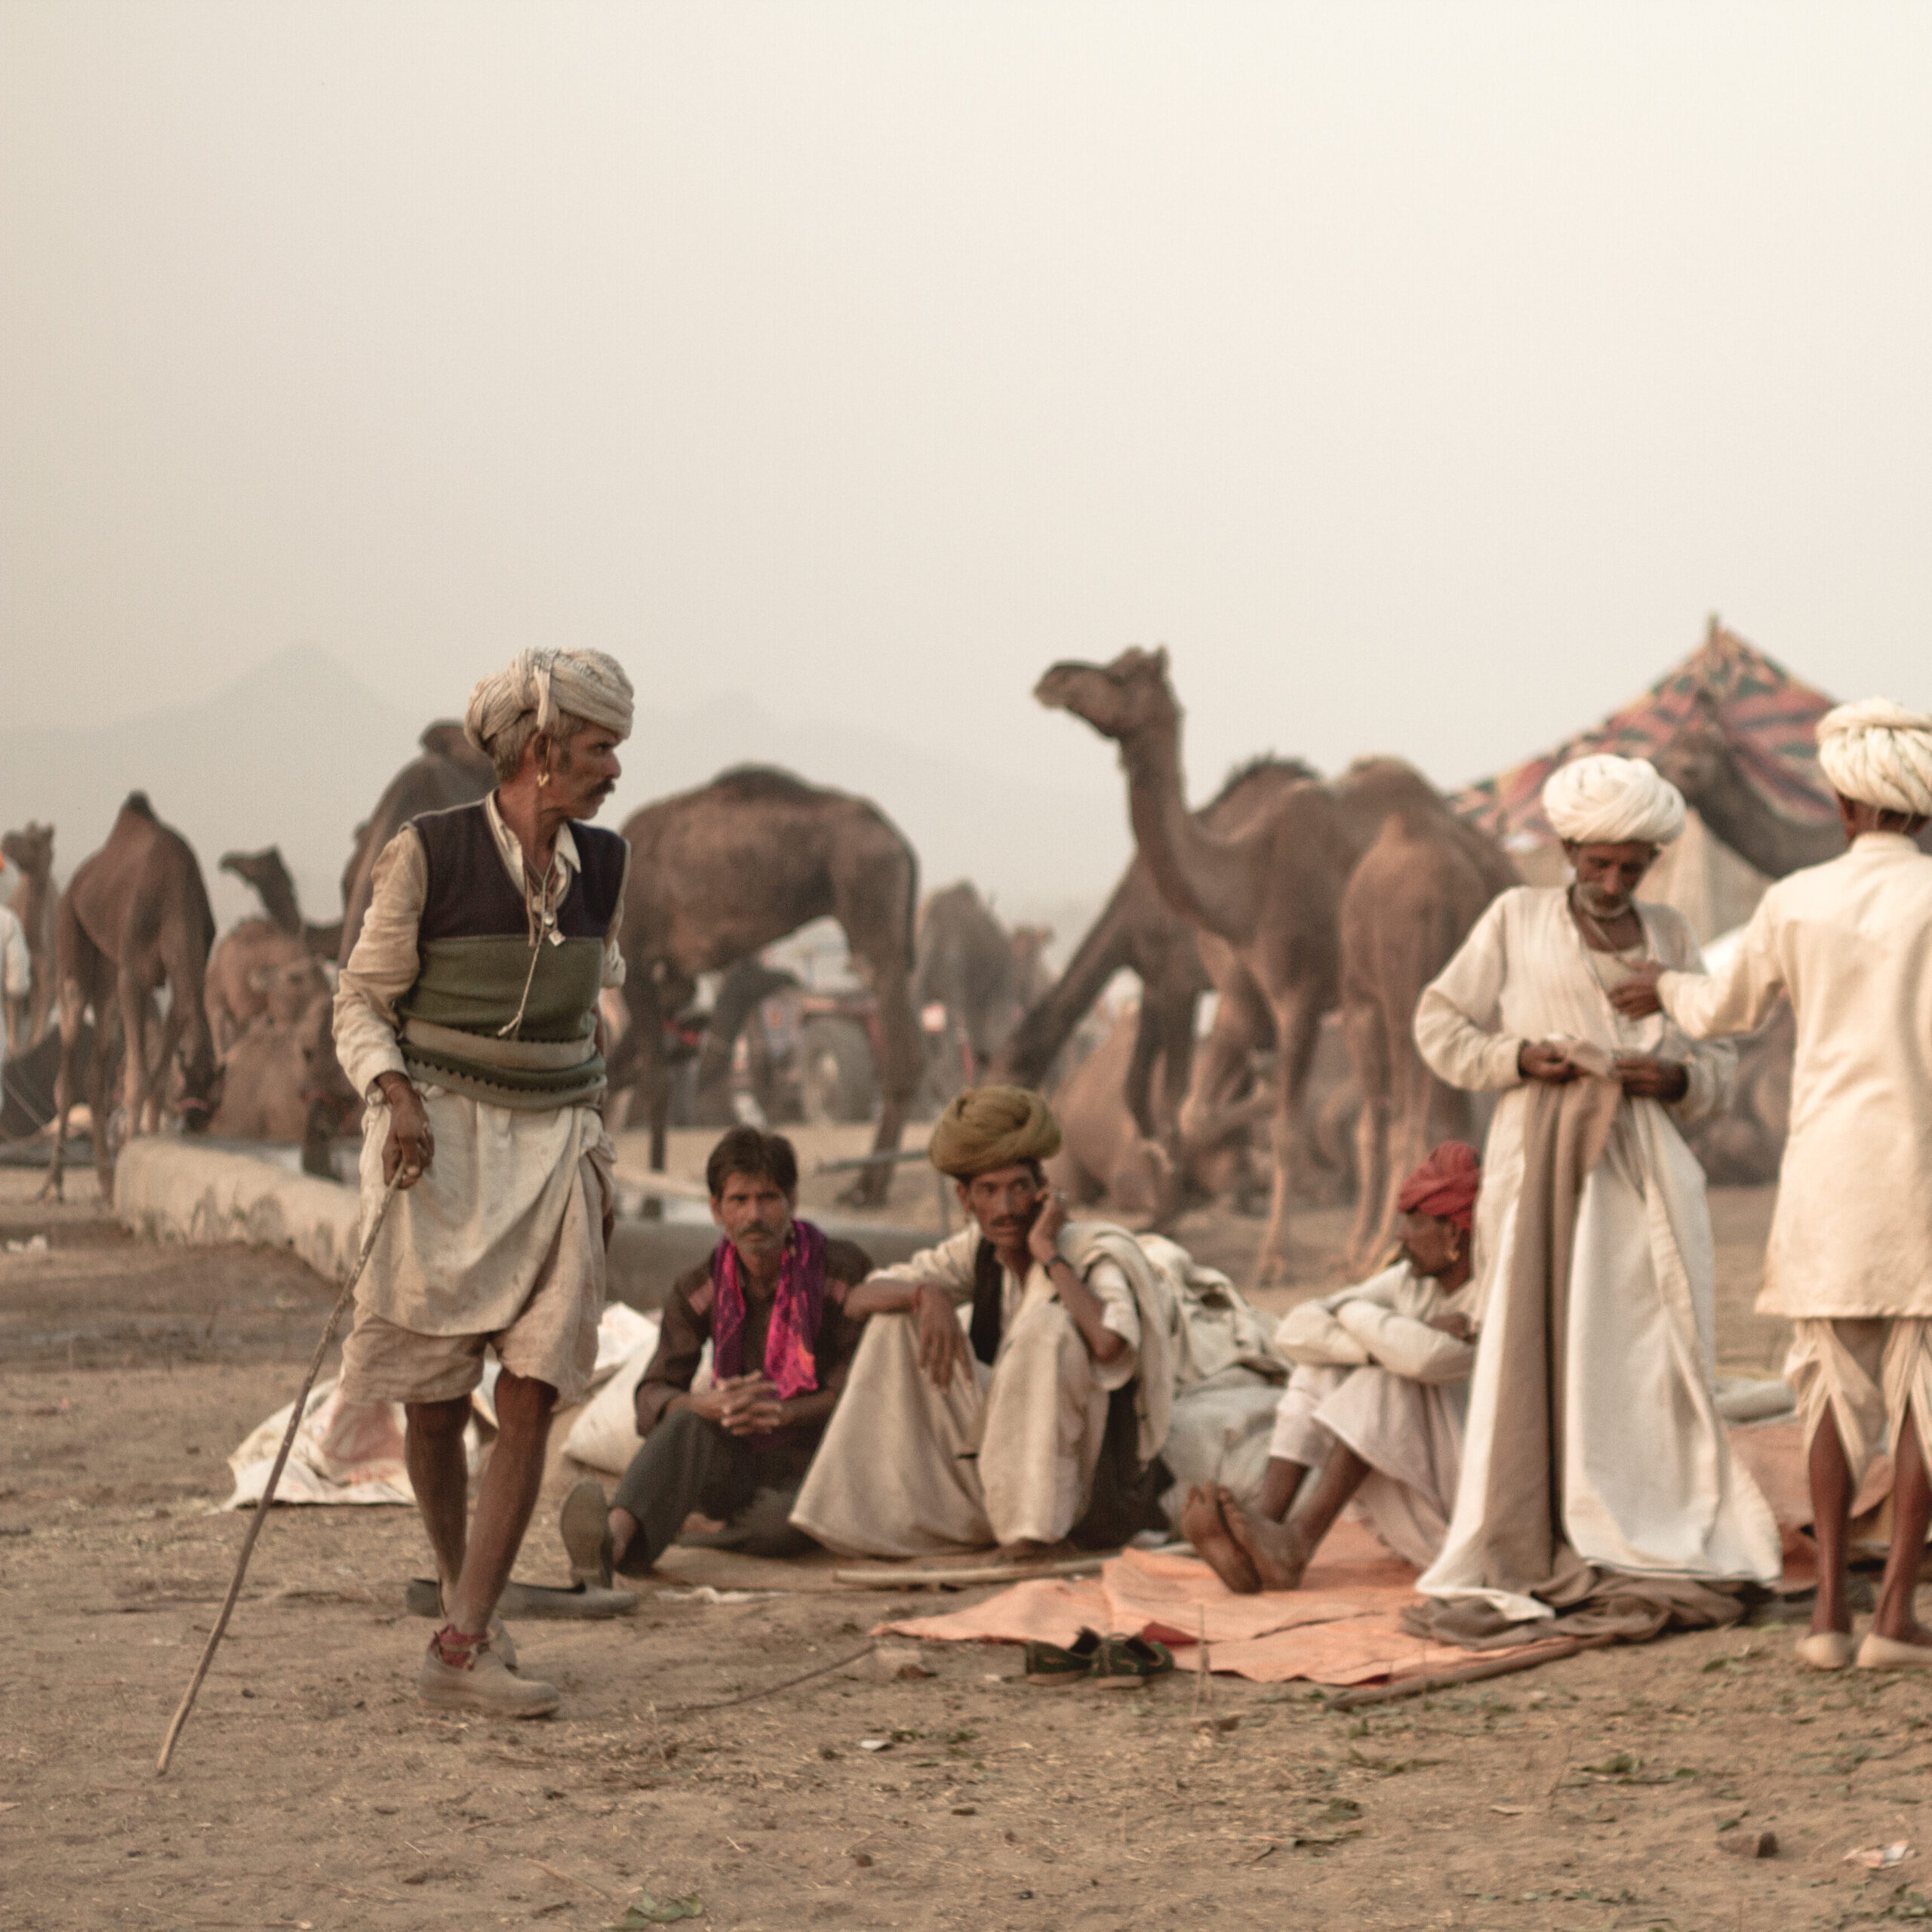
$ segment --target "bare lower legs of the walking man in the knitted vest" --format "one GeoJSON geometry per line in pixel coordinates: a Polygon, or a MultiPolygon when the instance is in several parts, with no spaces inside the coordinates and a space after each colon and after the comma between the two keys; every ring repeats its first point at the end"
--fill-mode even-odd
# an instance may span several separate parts
{"type": "Polygon", "coordinates": [[[510,1370],[497,1378],[497,1443],[477,1488],[475,1522],[468,1526],[468,1536],[464,1420],[469,1399],[408,1406],[404,1463],[437,1553],[450,1623],[458,1631],[487,1631],[497,1598],[510,1580],[543,1486],[554,1403],[556,1391],[547,1381],[531,1381],[510,1370]]]}

